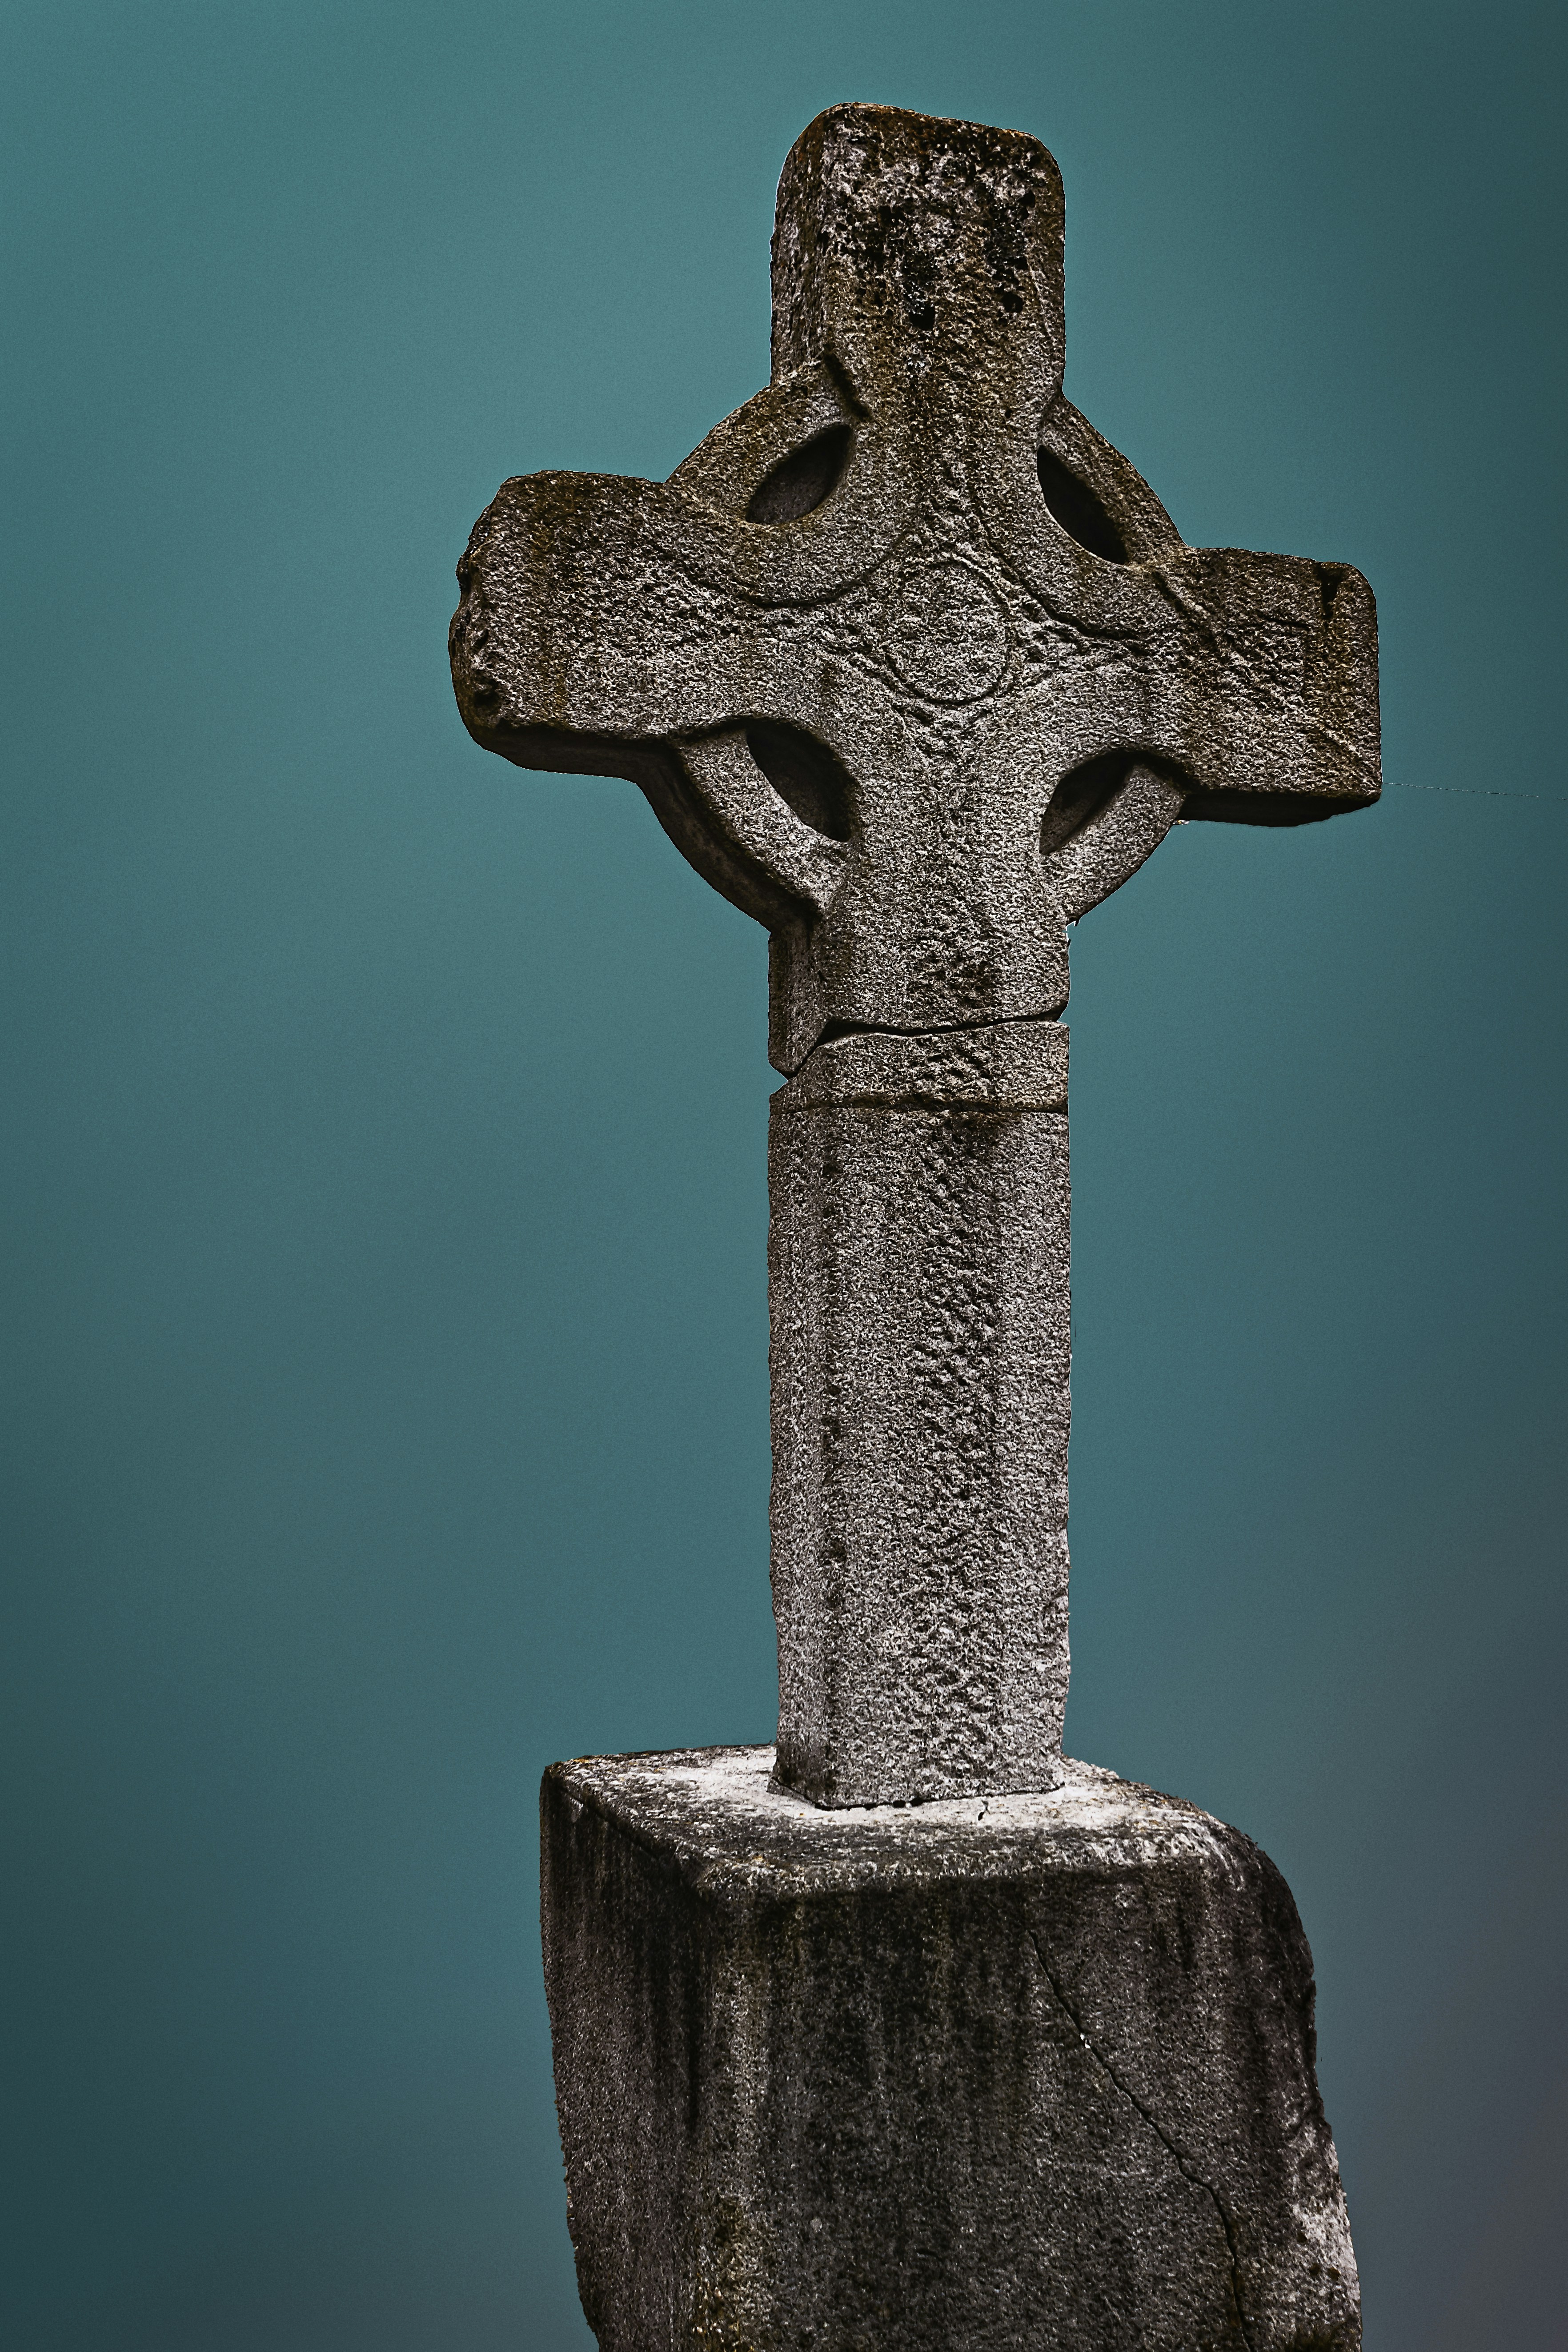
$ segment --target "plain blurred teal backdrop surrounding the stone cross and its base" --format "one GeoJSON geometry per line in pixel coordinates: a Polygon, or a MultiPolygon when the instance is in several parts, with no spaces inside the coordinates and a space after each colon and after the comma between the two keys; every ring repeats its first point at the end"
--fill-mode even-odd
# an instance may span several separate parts
{"type": "Polygon", "coordinates": [[[764,938],[444,628],[766,379],[846,96],[1039,134],[1070,395],[1378,590],[1382,807],[1077,934],[1070,1745],[1295,1889],[1371,2352],[1568,2345],[1563,47],[12,0],[9,2347],[588,2345],[534,1792],[771,1729],[764,938]]]}

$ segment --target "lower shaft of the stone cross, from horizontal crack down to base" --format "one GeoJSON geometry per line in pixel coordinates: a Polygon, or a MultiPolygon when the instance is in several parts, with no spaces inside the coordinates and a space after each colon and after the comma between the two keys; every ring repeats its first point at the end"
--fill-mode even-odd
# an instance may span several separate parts
{"type": "Polygon", "coordinates": [[[769,1134],[778,1778],[1044,1790],[1067,1705],[1067,1030],[851,1033],[769,1134]]]}

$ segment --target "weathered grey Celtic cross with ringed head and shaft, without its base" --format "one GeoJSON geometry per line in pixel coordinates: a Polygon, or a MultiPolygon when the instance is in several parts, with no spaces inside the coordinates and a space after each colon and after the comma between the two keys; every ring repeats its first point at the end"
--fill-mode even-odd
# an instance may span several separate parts
{"type": "Polygon", "coordinates": [[[1063,397],[1063,186],[835,106],[773,381],[668,482],[505,482],[463,720],[628,776],[771,931],[778,1785],[1048,1790],[1067,1698],[1067,924],[1178,818],[1378,797],[1373,597],[1182,546],[1063,397]]]}

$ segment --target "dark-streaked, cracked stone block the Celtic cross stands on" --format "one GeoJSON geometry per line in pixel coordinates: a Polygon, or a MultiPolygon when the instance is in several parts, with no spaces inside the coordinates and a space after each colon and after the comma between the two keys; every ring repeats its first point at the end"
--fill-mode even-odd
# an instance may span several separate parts
{"type": "Polygon", "coordinates": [[[602,2352],[1354,2352],[1312,1957],[1274,1865],[1088,1764],[818,1811],[771,1748],[543,1783],[602,2352]]]}

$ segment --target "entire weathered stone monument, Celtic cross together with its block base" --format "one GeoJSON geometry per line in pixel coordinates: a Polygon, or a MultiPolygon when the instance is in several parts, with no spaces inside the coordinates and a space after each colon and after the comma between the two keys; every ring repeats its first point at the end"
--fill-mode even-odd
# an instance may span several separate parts
{"type": "Polygon", "coordinates": [[[788,1080],[778,1752],[545,1776],[599,2345],[1352,2352],[1291,1896],[1060,1755],[1060,1014],[1173,823],[1378,797],[1366,581],[1182,546],[1063,397],[1046,151],[875,106],[785,165],[771,386],[668,482],[505,482],[458,579],[470,734],[649,795],[788,1080]]]}

